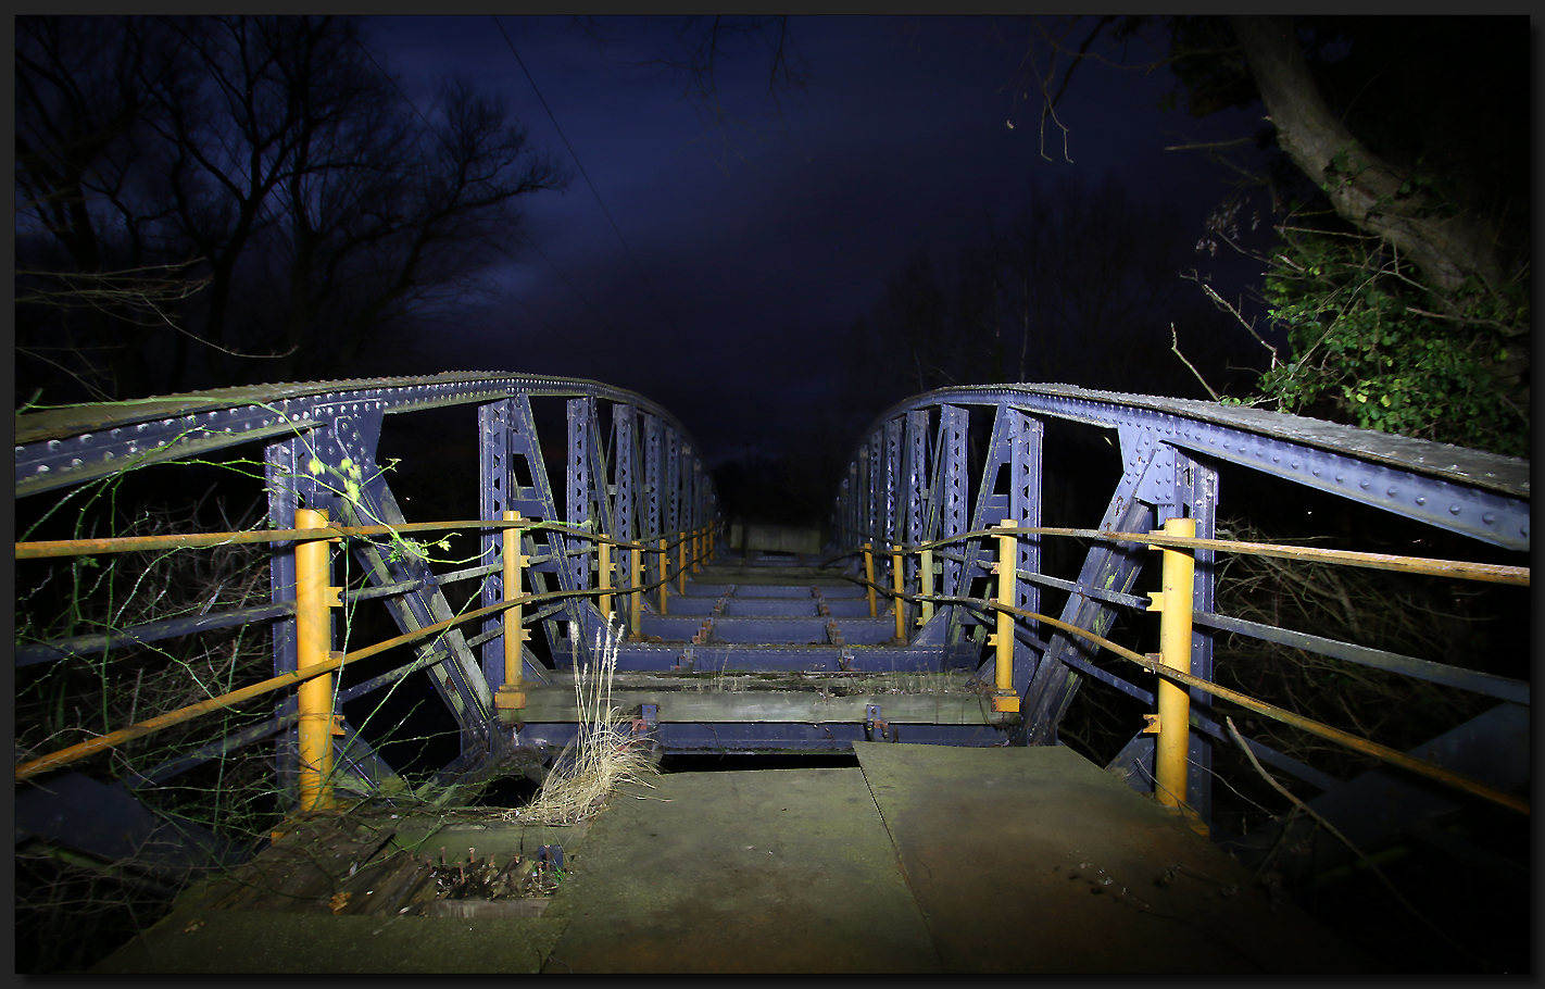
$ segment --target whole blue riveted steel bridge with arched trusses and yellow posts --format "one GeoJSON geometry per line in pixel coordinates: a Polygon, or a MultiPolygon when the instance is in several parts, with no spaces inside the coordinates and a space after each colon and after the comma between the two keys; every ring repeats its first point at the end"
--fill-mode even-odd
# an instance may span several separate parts
{"type": "MultiPolygon", "coordinates": [[[[1528,552],[1526,461],[1208,402],[1063,385],[947,388],[888,410],[859,437],[825,544],[796,555],[731,532],[701,447],[667,410],[586,380],[440,374],[232,388],[34,413],[15,427],[22,508],[130,470],[261,453],[267,527],[247,538],[273,550],[267,604],[19,641],[19,671],[252,624],[272,632],[275,677],[230,700],[267,706],[266,720],[127,779],[100,768],[114,737],[28,753],[17,765],[19,841],[40,834],[108,859],[156,848],[168,870],[229,865],[233,848],[198,825],[170,825],[139,797],[256,743],[278,753],[281,807],[467,804],[501,777],[552,765],[578,731],[576,668],[595,668],[610,643],[613,705],[661,754],[851,753],[867,742],[1058,746],[1074,695],[1097,680],[1092,689],[1156,711],[1129,726],[1131,742],[1106,768],[1139,793],[1154,793],[1157,779],[1159,804],[1251,862],[1281,834],[1234,836],[1213,821],[1213,749],[1234,745],[1216,697],[1253,703],[1261,717],[1301,719],[1292,722],[1287,698],[1216,689],[1213,640],[1228,632],[1486,697],[1483,714],[1409,753],[1326,736],[1383,760],[1353,779],[1245,743],[1273,773],[1316,788],[1309,805],[1358,844],[1424,836],[1474,868],[1517,878],[1517,865],[1434,825],[1477,800],[1528,813],[1530,685],[1219,613],[1221,553],[1258,550],[1216,542],[1216,518],[1221,473],[1248,471],[1256,491],[1313,488],[1403,525],[1465,536],[1477,555],[1528,552]],[[464,416],[470,434],[439,442],[476,442],[477,518],[447,519],[417,502],[409,518],[379,457],[383,423],[450,406],[476,411],[474,434],[464,416]],[[538,434],[539,422],[548,434],[538,434]],[[1057,470],[1085,467],[1046,456],[1048,427],[1063,428],[1055,423],[1102,433],[1120,451],[1095,530],[1069,535],[1046,521],[1048,474],[1055,482],[1057,470]],[[479,533],[473,566],[450,569],[403,542],[442,538],[440,522],[479,533]],[[1043,566],[1055,539],[1083,555],[1075,573],[1043,566]],[[312,550],[321,556],[307,558],[312,550]],[[1157,572],[1160,558],[1180,576],[1166,576],[1160,595],[1136,593],[1143,567],[1157,572]],[[320,578],[307,576],[315,559],[320,578]],[[326,600],[343,572],[363,576],[326,600]],[[457,613],[445,590],[464,581],[477,593],[457,613]],[[320,624],[312,586],[323,595],[320,624]],[[1043,598],[1061,601],[1057,613],[1043,598]],[[355,675],[366,666],[351,663],[368,644],[337,652],[329,615],[368,600],[385,603],[409,652],[355,675]],[[1142,617],[1148,610],[1162,618],[1142,617]],[[1159,654],[1109,643],[1123,613],[1163,623],[1159,654]],[[1154,671],[1163,674],[1159,695],[1154,671]],[[306,700],[301,678],[326,688],[321,709],[306,708],[318,702],[306,700]],[[351,702],[388,688],[433,692],[456,725],[459,753],[409,794],[388,787],[399,768],[372,746],[372,728],[348,717],[366,709],[351,702]]],[[[216,533],[205,544],[229,539],[216,533]]],[[[19,544],[17,553],[102,558],[113,549],[19,544]]],[[[1275,552],[1528,583],[1526,570],[1485,564],[1275,552]]],[[[124,728],[124,737],[139,731],[124,728]]],[[[1319,864],[1349,856],[1323,833],[1309,844],[1299,853],[1319,864]]]]}

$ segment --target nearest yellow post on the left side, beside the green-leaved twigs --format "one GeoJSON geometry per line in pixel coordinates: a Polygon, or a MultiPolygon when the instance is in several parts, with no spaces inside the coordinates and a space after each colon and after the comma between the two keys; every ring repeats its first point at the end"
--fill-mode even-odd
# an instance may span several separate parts
{"type": "MultiPolygon", "coordinates": [[[[328,513],[297,508],[297,528],[321,528],[328,513]]],[[[337,603],[328,584],[328,539],[295,544],[295,663],[306,669],[326,663],[332,646],[332,615],[337,603]]],[[[312,677],[297,688],[300,705],[300,791],[301,811],[332,808],[332,677],[312,677]]]]}

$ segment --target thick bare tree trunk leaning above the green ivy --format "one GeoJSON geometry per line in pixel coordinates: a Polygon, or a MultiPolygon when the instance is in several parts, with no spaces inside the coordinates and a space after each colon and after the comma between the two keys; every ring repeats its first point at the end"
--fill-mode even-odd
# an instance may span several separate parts
{"type": "Polygon", "coordinates": [[[1496,232],[1479,216],[1440,216],[1418,192],[1403,193],[1409,176],[1374,156],[1330,111],[1298,48],[1292,17],[1230,17],[1244,46],[1276,139],[1319,185],[1336,213],[1374,233],[1428,277],[1452,292],[1468,277],[1502,284],[1496,232]]]}

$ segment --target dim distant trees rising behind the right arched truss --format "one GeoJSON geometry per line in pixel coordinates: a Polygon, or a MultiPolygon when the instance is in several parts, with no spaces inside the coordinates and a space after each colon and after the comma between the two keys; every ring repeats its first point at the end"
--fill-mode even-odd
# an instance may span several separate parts
{"type": "Polygon", "coordinates": [[[890,275],[848,331],[842,419],[856,436],[888,405],[947,385],[1207,397],[1185,362],[1214,389],[1242,388],[1261,372],[1259,346],[1183,277],[1199,229],[1112,176],[1032,182],[987,243],[919,252],[890,275]]]}

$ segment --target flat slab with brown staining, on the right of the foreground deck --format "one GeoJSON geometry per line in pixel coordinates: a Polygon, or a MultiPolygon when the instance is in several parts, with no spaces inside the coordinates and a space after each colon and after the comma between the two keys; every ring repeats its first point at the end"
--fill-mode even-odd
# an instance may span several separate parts
{"type": "Polygon", "coordinates": [[[1370,972],[1077,753],[854,743],[949,972],[1370,972]]]}

